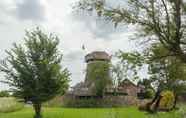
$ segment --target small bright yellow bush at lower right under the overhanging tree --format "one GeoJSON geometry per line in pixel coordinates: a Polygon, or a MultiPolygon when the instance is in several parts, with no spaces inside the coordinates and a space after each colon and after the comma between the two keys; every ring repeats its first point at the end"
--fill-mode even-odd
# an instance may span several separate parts
{"type": "Polygon", "coordinates": [[[163,91],[161,93],[161,100],[159,104],[160,110],[170,110],[174,106],[175,96],[174,93],[171,91],[163,91]]]}

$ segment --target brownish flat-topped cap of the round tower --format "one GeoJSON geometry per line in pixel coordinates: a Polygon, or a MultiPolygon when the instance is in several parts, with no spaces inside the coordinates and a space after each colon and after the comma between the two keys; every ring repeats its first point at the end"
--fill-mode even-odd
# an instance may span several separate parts
{"type": "Polygon", "coordinates": [[[94,61],[94,60],[110,61],[111,56],[105,51],[94,51],[85,56],[86,62],[94,61]]]}

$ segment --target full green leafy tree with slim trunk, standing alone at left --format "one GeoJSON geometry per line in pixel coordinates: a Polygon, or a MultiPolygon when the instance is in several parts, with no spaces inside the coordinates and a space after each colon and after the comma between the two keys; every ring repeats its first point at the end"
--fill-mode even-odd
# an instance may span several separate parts
{"type": "Polygon", "coordinates": [[[57,36],[43,33],[39,28],[26,32],[24,45],[14,44],[0,70],[6,74],[16,97],[31,101],[35,118],[41,118],[41,106],[68,88],[69,71],[62,68],[62,54],[57,36]]]}

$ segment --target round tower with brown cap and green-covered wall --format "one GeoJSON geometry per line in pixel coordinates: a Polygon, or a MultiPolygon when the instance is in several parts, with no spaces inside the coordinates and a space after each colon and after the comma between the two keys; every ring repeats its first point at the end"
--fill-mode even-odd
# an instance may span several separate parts
{"type": "Polygon", "coordinates": [[[95,84],[101,81],[110,82],[111,56],[109,54],[104,51],[94,51],[85,56],[85,61],[87,63],[85,83],[88,86],[96,86],[95,84]]]}

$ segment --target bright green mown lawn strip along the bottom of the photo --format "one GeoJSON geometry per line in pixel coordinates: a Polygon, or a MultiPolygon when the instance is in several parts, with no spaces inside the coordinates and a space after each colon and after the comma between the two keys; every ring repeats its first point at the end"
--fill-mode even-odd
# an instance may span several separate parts
{"type": "MultiPolygon", "coordinates": [[[[134,107],[113,109],[44,108],[43,116],[44,118],[184,118],[184,111],[184,109],[180,109],[175,112],[149,115],[134,107]]],[[[24,108],[17,112],[0,113],[0,118],[33,118],[33,110],[32,108],[24,108]]]]}

